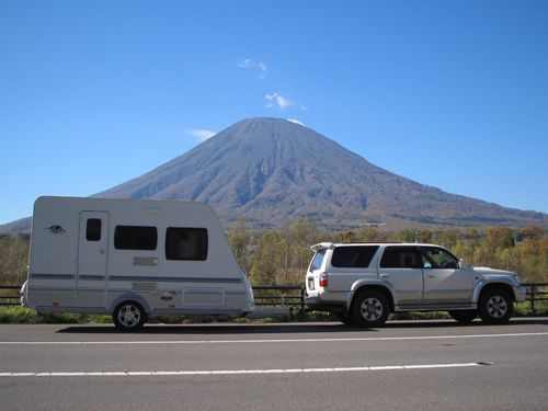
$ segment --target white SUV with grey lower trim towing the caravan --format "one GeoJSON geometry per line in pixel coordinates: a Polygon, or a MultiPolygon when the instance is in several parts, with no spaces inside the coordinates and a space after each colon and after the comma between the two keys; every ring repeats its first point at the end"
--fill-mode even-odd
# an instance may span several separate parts
{"type": "Polygon", "coordinates": [[[331,243],[310,248],[307,304],[342,322],[383,326],[392,311],[447,310],[457,321],[507,322],[525,301],[520,276],[471,267],[446,249],[416,243],[331,243]]]}

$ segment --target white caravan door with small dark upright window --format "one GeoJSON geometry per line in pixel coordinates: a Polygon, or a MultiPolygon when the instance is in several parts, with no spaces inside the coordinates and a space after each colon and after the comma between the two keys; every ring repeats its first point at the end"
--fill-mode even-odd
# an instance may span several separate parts
{"type": "Polygon", "coordinates": [[[76,302],[79,306],[104,306],[107,246],[109,213],[80,213],[76,279],[76,302]]]}

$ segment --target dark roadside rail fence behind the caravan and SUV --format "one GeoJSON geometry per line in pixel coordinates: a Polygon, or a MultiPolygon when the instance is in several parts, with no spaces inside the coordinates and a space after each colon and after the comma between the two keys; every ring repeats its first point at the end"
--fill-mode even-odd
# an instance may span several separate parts
{"type": "MultiPolygon", "coordinates": [[[[548,283],[527,283],[526,301],[529,302],[530,311],[536,312],[538,301],[548,301],[548,283]]],[[[0,285],[0,306],[19,306],[20,285],[0,285]],[[7,290],[2,293],[2,290],[7,290]]],[[[282,306],[295,307],[298,316],[305,313],[306,288],[299,285],[256,285],[253,286],[255,306],[282,306]]]]}

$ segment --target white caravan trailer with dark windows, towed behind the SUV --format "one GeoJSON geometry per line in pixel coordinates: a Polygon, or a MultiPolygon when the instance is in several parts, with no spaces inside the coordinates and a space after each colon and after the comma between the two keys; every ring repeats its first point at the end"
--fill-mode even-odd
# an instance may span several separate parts
{"type": "Polygon", "coordinates": [[[181,201],[39,197],[23,305],[112,313],[122,330],[148,316],[237,316],[253,292],[219,219],[181,201]]]}

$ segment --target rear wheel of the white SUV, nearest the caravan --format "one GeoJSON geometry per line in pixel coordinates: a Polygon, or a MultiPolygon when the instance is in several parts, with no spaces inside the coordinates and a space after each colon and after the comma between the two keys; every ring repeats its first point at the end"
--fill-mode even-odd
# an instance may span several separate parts
{"type": "Polygon", "coordinates": [[[381,327],[390,313],[390,305],[383,293],[365,290],[352,302],[352,319],[359,327],[381,327]]]}

